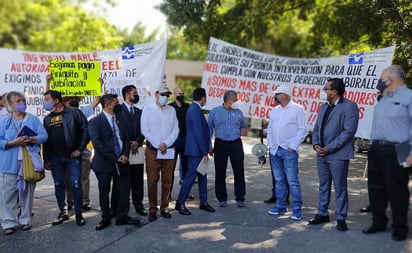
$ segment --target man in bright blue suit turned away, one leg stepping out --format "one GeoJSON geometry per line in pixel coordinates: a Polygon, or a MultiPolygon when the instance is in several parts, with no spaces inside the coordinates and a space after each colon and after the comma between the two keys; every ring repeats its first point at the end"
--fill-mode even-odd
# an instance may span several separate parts
{"type": "Polygon", "coordinates": [[[190,215],[185,202],[190,194],[190,189],[198,177],[198,189],[201,210],[214,212],[215,209],[207,202],[207,176],[197,172],[200,163],[209,161],[208,152],[211,149],[209,126],[203,115],[201,107],[206,104],[206,91],[197,88],[193,91],[193,103],[189,106],[186,115],[186,144],[185,155],[188,157],[188,171],[183,179],[175,209],[182,215],[190,215]]]}

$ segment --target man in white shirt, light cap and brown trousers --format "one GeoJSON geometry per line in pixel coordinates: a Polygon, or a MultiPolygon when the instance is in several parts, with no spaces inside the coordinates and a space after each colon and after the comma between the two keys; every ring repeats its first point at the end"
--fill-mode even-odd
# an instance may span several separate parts
{"type": "Polygon", "coordinates": [[[160,215],[171,218],[168,212],[170,186],[174,172],[174,148],[179,135],[176,111],[167,104],[172,93],[160,86],[155,93],[156,102],[143,108],[142,134],[146,137],[146,174],[149,197],[149,221],[157,219],[157,183],[161,175],[160,215]]]}

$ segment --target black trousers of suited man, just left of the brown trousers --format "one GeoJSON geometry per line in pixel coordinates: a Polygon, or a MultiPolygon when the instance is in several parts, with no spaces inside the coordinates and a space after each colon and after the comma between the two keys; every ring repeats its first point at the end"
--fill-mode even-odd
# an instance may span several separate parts
{"type": "Polygon", "coordinates": [[[144,197],[144,165],[133,164],[130,165],[130,188],[132,192],[132,202],[134,208],[137,210],[144,209],[143,197],[144,197]]]}

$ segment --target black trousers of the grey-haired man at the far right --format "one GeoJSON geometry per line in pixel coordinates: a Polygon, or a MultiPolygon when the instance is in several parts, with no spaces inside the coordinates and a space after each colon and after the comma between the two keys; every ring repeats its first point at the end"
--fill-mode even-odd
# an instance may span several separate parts
{"type": "Polygon", "coordinates": [[[393,231],[407,233],[409,172],[398,164],[393,145],[372,144],[368,151],[368,192],[374,225],[386,226],[389,202],[393,231]]]}

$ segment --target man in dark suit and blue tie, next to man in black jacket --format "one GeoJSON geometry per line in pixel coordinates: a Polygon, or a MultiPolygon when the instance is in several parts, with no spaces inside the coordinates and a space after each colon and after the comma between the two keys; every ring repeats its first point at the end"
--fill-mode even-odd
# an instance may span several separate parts
{"type": "Polygon", "coordinates": [[[121,105],[115,94],[106,94],[101,98],[103,112],[89,121],[89,134],[95,154],[92,169],[96,174],[99,187],[99,202],[102,220],[96,230],[110,225],[111,211],[116,212],[116,225],[138,224],[128,216],[130,196],[130,152],[129,138],[124,125],[116,118],[121,105]],[[112,210],[109,206],[111,180],[113,182],[112,210]],[[115,198],[115,200],[113,200],[115,198]],[[116,205],[114,207],[113,205],[116,205]]]}

